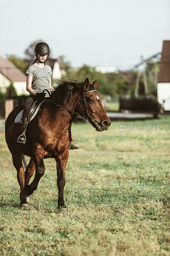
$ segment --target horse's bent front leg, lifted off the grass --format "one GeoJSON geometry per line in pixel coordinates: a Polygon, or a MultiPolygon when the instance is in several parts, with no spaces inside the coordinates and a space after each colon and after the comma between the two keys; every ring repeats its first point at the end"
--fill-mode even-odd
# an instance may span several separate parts
{"type": "Polygon", "coordinates": [[[37,189],[39,180],[45,173],[45,166],[44,166],[44,149],[37,144],[34,149],[34,156],[33,160],[35,163],[35,177],[32,180],[32,183],[30,185],[25,185],[23,188],[23,194],[24,196],[30,196],[34,192],[34,190],[37,189]]]}

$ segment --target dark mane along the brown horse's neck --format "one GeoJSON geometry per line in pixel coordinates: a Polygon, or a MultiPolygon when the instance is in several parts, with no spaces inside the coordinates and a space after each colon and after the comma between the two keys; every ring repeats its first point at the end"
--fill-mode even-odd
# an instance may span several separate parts
{"type": "MultiPolygon", "coordinates": [[[[56,87],[54,88],[54,91],[51,93],[50,98],[52,98],[54,95],[59,97],[59,103],[60,104],[66,104],[68,100],[71,99],[72,93],[77,90],[77,91],[82,91],[84,82],[78,82],[74,79],[65,79],[61,78],[59,82],[56,83],[56,87]]],[[[93,90],[93,86],[90,84],[90,89],[93,90]]]]}

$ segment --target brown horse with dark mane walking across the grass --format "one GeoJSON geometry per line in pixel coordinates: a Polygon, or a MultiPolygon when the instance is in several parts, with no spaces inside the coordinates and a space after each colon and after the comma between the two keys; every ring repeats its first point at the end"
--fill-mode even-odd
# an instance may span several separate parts
{"type": "Polygon", "coordinates": [[[55,158],[57,164],[57,185],[59,190],[58,207],[65,207],[63,191],[65,186],[65,167],[69,155],[70,124],[77,116],[56,104],[77,111],[88,117],[88,121],[96,131],[107,130],[111,124],[96,92],[97,81],[78,83],[74,80],[61,80],[58,87],[52,92],[50,100],[43,102],[37,115],[28,124],[25,144],[18,143],[21,133],[21,124],[15,123],[15,117],[23,109],[20,105],[12,110],[5,122],[5,139],[12,154],[13,165],[17,169],[17,178],[20,185],[20,206],[28,206],[26,197],[37,189],[40,178],[44,175],[45,158],[55,158]],[[30,156],[26,166],[25,156],[30,156]],[[24,169],[25,172],[24,172],[24,169]],[[35,171],[31,184],[29,181],[35,171]]]}

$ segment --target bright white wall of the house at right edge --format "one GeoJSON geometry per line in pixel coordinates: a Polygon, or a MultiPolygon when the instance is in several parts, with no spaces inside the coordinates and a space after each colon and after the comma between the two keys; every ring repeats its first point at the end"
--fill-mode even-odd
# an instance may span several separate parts
{"type": "Polygon", "coordinates": [[[170,111],[170,83],[157,84],[158,102],[162,104],[164,110],[170,111]],[[165,103],[163,103],[165,100],[165,103]]]}

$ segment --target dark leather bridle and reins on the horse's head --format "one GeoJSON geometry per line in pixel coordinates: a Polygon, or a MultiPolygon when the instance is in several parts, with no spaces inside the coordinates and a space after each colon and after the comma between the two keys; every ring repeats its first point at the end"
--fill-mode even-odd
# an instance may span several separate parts
{"type": "MultiPolygon", "coordinates": [[[[48,92],[47,89],[44,89],[43,92],[44,92],[44,91],[47,91],[47,92],[48,92]]],[[[75,114],[75,115],[78,115],[78,116],[81,116],[81,117],[85,118],[85,119],[87,119],[87,121],[88,121],[89,123],[91,123],[92,121],[95,121],[95,120],[93,120],[93,117],[92,117],[92,116],[89,116],[89,113],[88,113],[88,110],[87,110],[85,94],[88,93],[88,92],[97,92],[97,90],[90,90],[90,91],[84,92],[84,89],[83,89],[83,98],[82,98],[82,100],[83,100],[83,102],[84,102],[84,107],[85,107],[87,116],[81,115],[81,114],[79,114],[79,113],[77,113],[77,112],[75,112],[75,111],[73,111],[73,110],[71,110],[71,109],[68,109],[68,108],[65,108],[65,107],[63,107],[63,106],[61,106],[61,105],[59,105],[59,104],[56,104],[55,102],[53,102],[52,100],[49,100],[48,98],[43,98],[43,99],[51,101],[53,104],[56,105],[56,107],[63,108],[63,109],[65,109],[65,110],[67,110],[68,112],[71,112],[71,113],[73,113],[73,114],[75,114]]],[[[49,92],[48,92],[48,94],[50,95],[49,92]]],[[[51,96],[51,95],[50,95],[50,96],[51,96]]],[[[82,102],[82,100],[81,100],[81,102],[82,102]]],[[[80,109],[80,106],[81,106],[81,103],[80,103],[80,105],[79,105],[79,109],[80,109]]]]}

